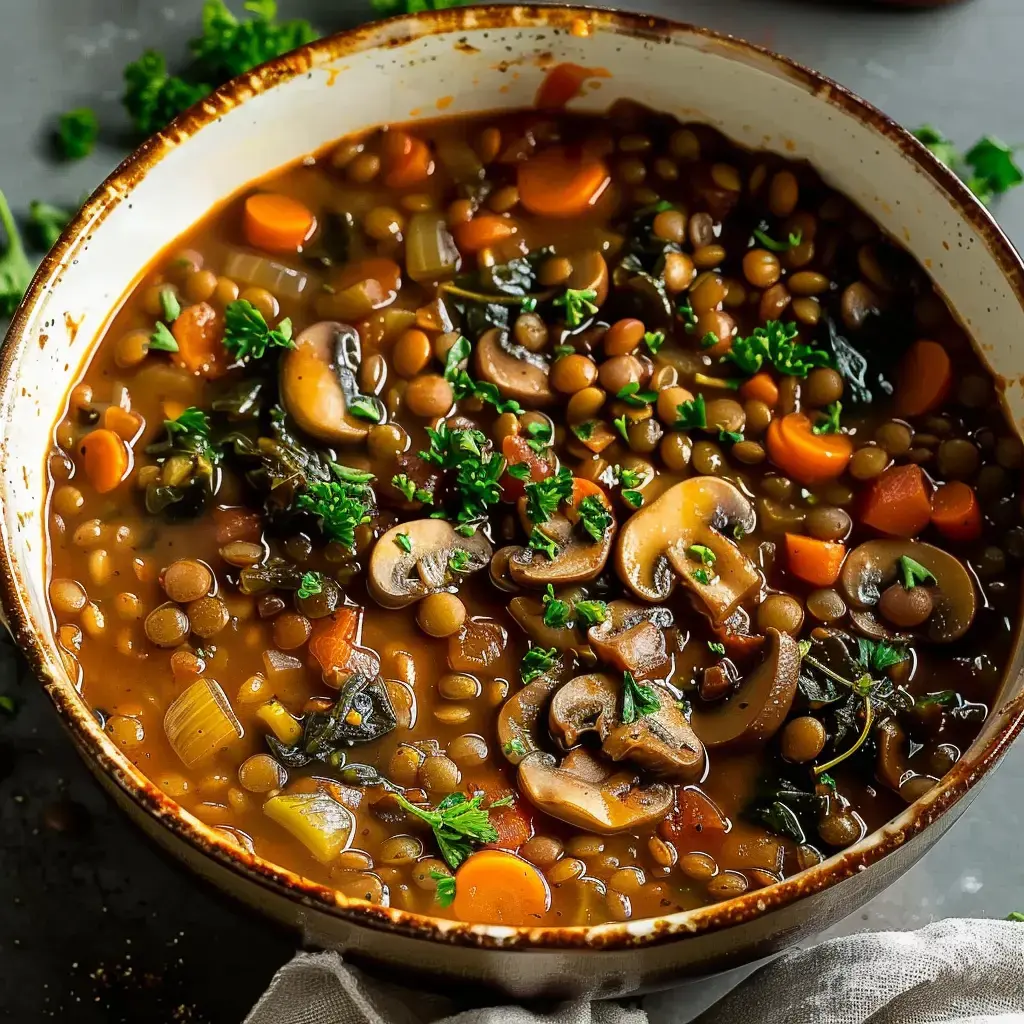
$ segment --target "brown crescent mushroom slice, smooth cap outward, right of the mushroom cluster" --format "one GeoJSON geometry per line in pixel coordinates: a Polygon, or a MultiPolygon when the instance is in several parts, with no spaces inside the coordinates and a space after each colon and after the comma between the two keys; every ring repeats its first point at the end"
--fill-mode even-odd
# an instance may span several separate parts
{"type": "Polygon", "coordinates": [[[714,708],[694,708],[690,725],[710,751],[763,746],[781,728],[800,676],[800,647],[787,633],[765,631],[767,654],[735,692],[714,708]]]}

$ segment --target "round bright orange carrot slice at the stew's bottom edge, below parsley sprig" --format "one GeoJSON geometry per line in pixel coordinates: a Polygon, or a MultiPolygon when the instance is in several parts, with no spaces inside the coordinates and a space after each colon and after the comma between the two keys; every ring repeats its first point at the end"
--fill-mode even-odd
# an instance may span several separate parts
{"type": "Polygon", "coordinates": [[[504,850],[470,854],[456,871],[452,909],[474,925],[539,925],[551,905],[544,876],[504,850]]]}

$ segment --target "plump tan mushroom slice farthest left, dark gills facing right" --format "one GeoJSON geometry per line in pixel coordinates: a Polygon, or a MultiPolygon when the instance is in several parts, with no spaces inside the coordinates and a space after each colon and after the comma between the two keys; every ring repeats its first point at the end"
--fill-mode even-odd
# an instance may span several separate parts
{"type": "Polygon", "coordinates": [[[331,444],[366,439],[372,424],[348,412],[359,395],[360,358],[359,336],[347,324],[321,321],[296,338],[281,360],[281,397],[307,434],[331,444]]]}

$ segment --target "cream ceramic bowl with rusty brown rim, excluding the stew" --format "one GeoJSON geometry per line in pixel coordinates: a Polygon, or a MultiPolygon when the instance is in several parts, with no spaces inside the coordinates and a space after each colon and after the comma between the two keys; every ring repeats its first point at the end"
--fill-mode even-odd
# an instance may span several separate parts
{"type": "Polygon", "coordinates": [[[988,214],[908,134],[776,54],[655,18],[569,7],[477,7],[323,40],[239,79],[126,160],[44,260],[0,364],[3,613],[86,763],[158,842],[311,944],[513,996],[615,995],[749,963],[823,930],[906,870],[965,810],[1024,723],[1017,637],[981,735],[884,829],[768,889],[670,916],[577,929],[460,925],[344,897],[241,852],[182,811],[99,730],[62,668],[46,608],[46,456],[65,394],[140,268],[247,181],[388,121],[529,104],[570,60],[611,77],[573,101],[629,97],[739,142],[812,161],[930,271],[1024,417],[1024,265],[988,214]]]}

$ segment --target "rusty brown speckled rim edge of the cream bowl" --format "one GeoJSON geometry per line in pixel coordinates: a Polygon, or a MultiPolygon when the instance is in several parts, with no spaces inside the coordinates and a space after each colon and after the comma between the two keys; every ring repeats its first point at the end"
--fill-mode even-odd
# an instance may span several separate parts
{"type": "MultiPolygon", "coordinates": [[[[253,96],[307,74],[319,63],[365,50],[397,47],[439,34],[512,28],[545,28],[577,35],[607,32],[658,42],[703,40],[720,50],[732,51],[732,59],[753,58],[759,66],[767,65],[896,145],[920,172],[938,186],[942,198],[971,223],[987,254],[1024,306],[1024,263],[989,212],[959,178],[906,129],[826,76],[760,44],[669,18],[583,5],[482,4],[398,15],[326,36],[226,83],[144,141],[93,191],[36,271],[12,318],[0,354],[0,398],[6,399],[13,384],[13,370],[29,343],[28,329],[36,317],[38,307],[59,282],[61,269],[73,258],[82,239],[114,207],[129,198],[134,185],[180,141],[253,96]]],[[[81,698],[70,681],[50,671],[45,656],[48,645],[34,633],[30,616],[23,606],[24,588],[18,581],[19,568],[12,557],[5,525],[0,527],[0,607],[8,629],[49,694],[59,718],[71,731],[83,758],[94,771],[121,791],[123,803],[134,804],[159,827],[166,828],[172,838],[226,868],[237,877],[236,882],[253,883],[286,900],[354,925],[461,946],[534,951],[570,948],[623,950],[681,941],[752,922],[804,896],[830,888],[903,846],[959,802],[993,767],[1024,728],[1024,694],[1021,694],[991,712],[1005,720],[999,728],[980,750],[966,754],[928,795],[854,847],[766,889],[693,910],[617,924],[509,928],[451,922],[362,900],[349,900],[331,887],[314,883],[240,849],[180,808],[102,733],[94,717],[81,706],[81,698]]],[[[1018,636],[1014,660],[1018,659],[1020,644],[1018,636]]]]}

